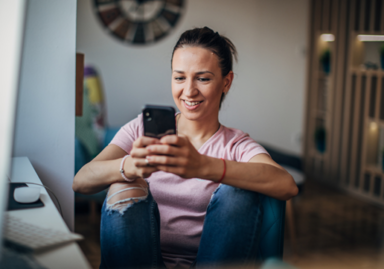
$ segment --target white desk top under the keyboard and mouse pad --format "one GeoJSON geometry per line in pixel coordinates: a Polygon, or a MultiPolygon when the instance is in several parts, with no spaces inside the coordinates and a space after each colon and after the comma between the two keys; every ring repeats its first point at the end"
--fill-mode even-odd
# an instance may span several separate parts
{"type": "MultiPolygon", "coordinates": [[[[11,182],[32,182],[41,184],[32,164],[27,157],[12,158],[12,178],[11,182]]],[[[36,186],[29,184],[29,186],[36,186]]],[[[41,227],[52,228],[68,232],[64,220],[57,211],[45,188],[41,187],[40,199],[44,203],[43,207],[12,210],[8,213],[12,216],[22,218],[24,222],[39,225],[41,227]]],[[[67,268],[90,268],[88,261],[76,242],[65,244],[34,255],[41,265],[52,269],[67,268]]]]}

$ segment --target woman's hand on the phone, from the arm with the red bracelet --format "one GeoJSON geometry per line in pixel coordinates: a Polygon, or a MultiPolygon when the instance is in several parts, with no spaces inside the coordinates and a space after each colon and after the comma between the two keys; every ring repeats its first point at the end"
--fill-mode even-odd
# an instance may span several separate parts
{"type": "Polygon", "coordinates": [[[149,152],[146,158],[151,165],[183,178],[201,178],[206,156],[198,153],[186,137],[166,135],[160,143],[145,147],[145,152],[149,152]]]}

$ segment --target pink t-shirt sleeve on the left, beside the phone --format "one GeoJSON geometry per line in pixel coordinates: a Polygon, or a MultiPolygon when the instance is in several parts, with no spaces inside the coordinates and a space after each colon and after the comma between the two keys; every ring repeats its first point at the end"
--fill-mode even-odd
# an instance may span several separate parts
{"type": "Polygon", "coordinates": [[[109,144],[115,144],[121,147],[129,154],[134,140],[142,135],[142,114],[123,125],[109,144]]]}

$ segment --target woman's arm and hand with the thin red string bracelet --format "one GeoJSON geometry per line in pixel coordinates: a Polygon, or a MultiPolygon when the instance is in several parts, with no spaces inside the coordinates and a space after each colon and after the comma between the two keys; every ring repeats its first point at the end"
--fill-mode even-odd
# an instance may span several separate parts
{"type": "MultiPolygon", "coordinates": [[[[160,139],[161,145],[149,145],[149,163],[158,169],[184,178],[203,178],[218,181],[224,170],[224,163],[198,153],[185,138],[167,135],[160,139]],[[166,154],[166,155],[157,155],[166,154]]],[[[249,162],[225,160],[226,172],[222,183],[243,189],[257,191],[280,200],[288,200],[297,194],[292,176],[267,154],[257,154],[249,162]]]]}

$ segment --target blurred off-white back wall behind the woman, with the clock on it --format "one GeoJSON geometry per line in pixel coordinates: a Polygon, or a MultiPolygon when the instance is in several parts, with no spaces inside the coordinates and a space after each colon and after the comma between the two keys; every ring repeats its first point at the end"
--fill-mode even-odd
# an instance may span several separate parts
{"type": "Polygon", "coordinates": [[[181,32],[208,26],[238,50],[235,79],[220,122],[256,141],[301,154],[292,141],[302,131],[308,0],[189,0],[175,31],[149,46],[129,46],[109,36],[92,12],[77,3],[77,51],[101,73],[110,125],[122,125],[145,103],[173,104],[170,56],[181,32]]]}

